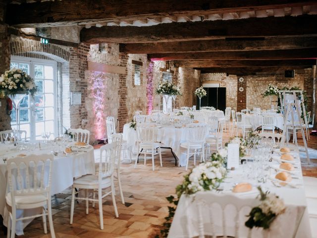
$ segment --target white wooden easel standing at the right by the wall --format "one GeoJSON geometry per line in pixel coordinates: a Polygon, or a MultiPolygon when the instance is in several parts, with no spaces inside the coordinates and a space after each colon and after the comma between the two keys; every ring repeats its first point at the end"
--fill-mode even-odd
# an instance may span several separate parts
{"type": "MultiPolygon", "coordinates": [[[[306,143],[305,133],[304,133],[304,129],[302,126],[302,119],[301,119],[301,112],[303,112],[304,122],[305,122],[305,124],[307,124],[303,90],[280,90],[280,91],[278,91],[278,94],[279,94],[279,99],[281,102],[281,111],[284,114],[283,135],[286,138],[286,143],[288,145],[288,141],[289,141],[287,129],[289,127],[293,128],[293,136],[295,136],[295,138],[296,138],[296,129],[300,129],[302,132],[303,142],[304,142],[304,146],[305,146],[307,162],[308,162],[308,164],[310,164],[311,161],[310,161],[309,155],[308,155],[307,143],[306,143]],[[296,93],[300,93],[301,100],[297,100],[296,93]],[[294,112],[293,108],[295,108],[295,112],[294,112]],[[286,110],[286,112],[285,112],[285,110],[286,110]],[[294,121],[295,113],[297,115],[296,121],[294,121]],[[291,124],[287,124],[289,115],[291,115],[291,124]],[[286,133],[287,133],[287,136],[286,136],[286,133]]],[[[295,144],[296,144],[296,147],[298,148],[297,138],[295,139],[295,144]]]]}

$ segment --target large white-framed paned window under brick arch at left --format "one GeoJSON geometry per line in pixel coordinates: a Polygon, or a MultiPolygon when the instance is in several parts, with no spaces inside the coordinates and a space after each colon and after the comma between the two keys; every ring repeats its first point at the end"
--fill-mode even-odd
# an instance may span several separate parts
{"type": "MultiPolygon", "coordinates": [[[[43,139],[42,132],[57,136],[56,61],[11,56],[10,68],[28,73],[38,87],[34,97],[27,95],[20,103],[20,129],[26,130],[31,140],[43,139]]],[[[17,127],[15,110],[11,113],[11,127],[17,127]]]]}

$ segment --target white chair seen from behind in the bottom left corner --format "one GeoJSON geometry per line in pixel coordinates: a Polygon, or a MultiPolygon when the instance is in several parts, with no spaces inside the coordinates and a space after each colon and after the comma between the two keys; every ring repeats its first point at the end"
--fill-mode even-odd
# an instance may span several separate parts
{"type": "Polygon", "coordinates": [[[9,191],[5,199],[9,207],[8,238],[14,238],[17,221],[36,217],[42,217],[44,233],[47,234],[46,216],[49,218],[51,236],[55,238],[51,207],[53,160],[53,155],[43,154],[7,161],[9,191]],[[16,218],[17,209],[33,208],[42,208],[42,214],[16,218]]]}

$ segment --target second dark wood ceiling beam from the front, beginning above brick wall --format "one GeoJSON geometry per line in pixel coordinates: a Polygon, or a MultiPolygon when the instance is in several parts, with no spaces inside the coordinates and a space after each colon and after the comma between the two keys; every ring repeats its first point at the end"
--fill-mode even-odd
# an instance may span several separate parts
{"type": "Polygon", "coordinates": [[[81,42],[167,42],[223,37],[317,36],[317,15],[248,18],[203,22],[173,22],[155,26],[103,26],[83,28],[81,42]]]}

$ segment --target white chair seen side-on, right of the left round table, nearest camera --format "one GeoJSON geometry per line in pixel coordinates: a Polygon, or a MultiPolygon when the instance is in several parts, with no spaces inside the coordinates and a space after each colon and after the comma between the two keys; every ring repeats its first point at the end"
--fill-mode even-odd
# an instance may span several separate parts
{"type": "Polygon", "coordinates": [[[100,162],[98,175],[85,175],[78,179],[74,180],[72,186],[72,194],[71,194],[71,207],[70,207],[70,222],[73,223],[74,216],[74,201],[84,200],[86,201],[86,214],[89,211],[89,201],[98,202],[99,205],[99,219],[100,219],[100,229],[104,230],[104,217],[103,217],[103,198],[107,195],[111,194],[112,203],[114,208],[115,217],[118,217],[118,210],[115,203],[114,196],[114,182],[113,182],[113,171],[115,170],[115,160],[118,151],[117,142],[113,142],[111,144],[104,145],[100,147],[100,162]],[[104,188],[109,188],[110,191],[105,192],[103,194],[104,188]],[[75,188],[79,189],[78,191],[75,188]],[[78,194],[80,189],[85,189],[85,197],[75,197],[75,194],[78,194]],[[89,198],[88,190],[93,190],[93,198],[89,198]],[[98,193],[98,199],[95,198],[95,193],[98,193]]]}

